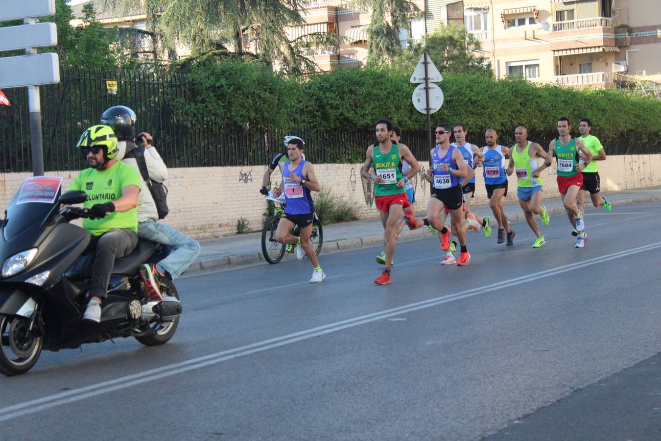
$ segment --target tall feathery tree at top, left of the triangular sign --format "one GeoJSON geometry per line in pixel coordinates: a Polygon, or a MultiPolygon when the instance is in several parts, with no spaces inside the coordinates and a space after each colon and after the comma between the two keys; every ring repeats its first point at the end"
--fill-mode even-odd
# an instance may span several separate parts
{"type": "Polygon", "coordinates": [[[398,54],[401,30],[410,31],[410,20],[421,14],[420,8],[410,0],[354,0],[352,5],[371,9],[368,65],[383,65],[398,54]]]}

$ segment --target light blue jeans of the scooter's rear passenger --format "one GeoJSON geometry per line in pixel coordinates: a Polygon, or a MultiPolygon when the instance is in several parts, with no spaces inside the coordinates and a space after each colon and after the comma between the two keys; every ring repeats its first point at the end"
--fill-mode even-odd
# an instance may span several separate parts
{"type": "Polygon", "coordinates": [[[173,279],[190,266],[200,254],[200,243],[165,223],[152,220],[137,223],[137,235],[141,239],[170,245],[174,251],[156,264],[159,271],[165,270],[173,279]]]}

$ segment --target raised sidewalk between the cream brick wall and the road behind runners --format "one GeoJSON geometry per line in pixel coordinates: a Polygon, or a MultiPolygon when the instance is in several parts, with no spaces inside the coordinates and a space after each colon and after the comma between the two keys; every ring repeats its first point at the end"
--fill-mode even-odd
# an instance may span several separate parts
{"type": "MultiPolygon", "coordinates": [[[[621,192],[608,192],[604,194],[613,205],[613,210],[623,204],[636,204],[641,202],[653,202],[661,200],[661,187],[641,188],[637,190],[626,190],[621,192]]],[[[564,208],[560,198],[543,200],[549,215],[563,214],[564,208]]],[[[426,207],[424,207],[426,208],[426,207]]],[[[516,188],[510,191],[509,196],[503,200],[503,208],[510,222],[525,220],[524,214],[516,198],[516,188]]],[[[586,195],[586,210],[594,210],[590,195],[586,195]]],[[[481,217],[493,218],[488,205],[471,206],[471,210],[481,217]]],[[[600,208],[602,210],[602,208],[600,208]]],[[[424,211],[416,213],[417,218],[424,217],[424,211]]],[[[496,227],[494,221],[494,228],[496,227]]],[[[323,249],[322,254],[329,251],[355,249],[369,247],[383,243],[383,227],[378,218],[333,225],[323,225],[323,249]]],[[[432,237],[430,231],[424,227],[410,231],[404,227],[399,235],[399,241],[418,239],[420,237],[432,237]]],[[[264,261],[262,256],[262,233],[250,233],[233,235],[227,237],[215,237],[214,239],[202,239],[202,251],[186,272],[225,268],[233,265],[243,265],[264,261]]],[[[295,259],[294,254],[285,254],[284,259],[295,259]]]]}

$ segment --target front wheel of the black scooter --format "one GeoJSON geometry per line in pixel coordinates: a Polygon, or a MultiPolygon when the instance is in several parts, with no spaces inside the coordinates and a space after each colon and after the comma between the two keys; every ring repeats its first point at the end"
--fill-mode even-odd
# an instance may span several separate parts
{"type": "Polygon", "coordinates": [[[0,314],[0,374],[25,374],[39,360],[43,338],[25,337],[29,325],[25,317],[0,314]]]}

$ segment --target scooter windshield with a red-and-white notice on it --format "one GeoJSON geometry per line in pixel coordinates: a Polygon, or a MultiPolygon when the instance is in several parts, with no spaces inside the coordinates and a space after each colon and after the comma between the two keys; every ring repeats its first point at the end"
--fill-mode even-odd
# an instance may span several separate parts
{"type": "Polygon", "coordinates": [[[7,206],[3,235],[9,241],[46,220],[53,206],[59,204],[62,178],[36,176],[24,180],[7,206]]]}

